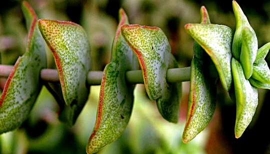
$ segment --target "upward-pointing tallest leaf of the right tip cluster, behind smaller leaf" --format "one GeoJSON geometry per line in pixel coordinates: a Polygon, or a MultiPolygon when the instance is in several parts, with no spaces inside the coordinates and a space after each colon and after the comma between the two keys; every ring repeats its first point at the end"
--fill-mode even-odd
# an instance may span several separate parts
{"type": "MultiPolygon", "coordinates": [[[[238,5],[238,3],[235,0],[232,0],[232,8],[233,8],[234,16],[235,16],[235,21],[236,21],[236,28],[235,28],[235,33],[233,36],[233,41],[232,41],[232,56],[236,60],[239,61],[241,50],[242,50],[241,49],[242,39],[243,39],[242,35],[243,35],[244,27],[247,28],[248,31],[250,31],[252,33],[252,36],[251,36],[252,40],[249,40],[249,41],[253,41],[252,44],[254,44],[254,45],[252,45],[253,47],[251,47],[249,49],[249,50],[254,50],[254,51],[251,51],[252,53],[256,53],[256,50],[257,50],[257,48],[255,49],[255,46],[257,47],[257,37],[256,37],[254,30],[250,26],[246,16],[244,15],[242,9],[240,8],[240,6],[238,5]]],[[[245,57],[245,58],[248,58],[248,57],[245,57]]],[[[247,60],[245,58],[242,58],[242,60],[240,60],[240,62],[243,63],[244,60],[247,60]]],[[[253,56],[250,58],[253,58],[253,56]]]]}

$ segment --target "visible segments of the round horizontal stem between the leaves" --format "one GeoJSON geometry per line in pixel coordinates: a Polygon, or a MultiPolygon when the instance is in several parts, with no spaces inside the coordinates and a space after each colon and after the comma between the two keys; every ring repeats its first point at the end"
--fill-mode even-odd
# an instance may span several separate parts
{"type": "MultiPolygon", "coordinates": [[[[217,76],[215,68],[209,66],[211,77],[217,76]]],[[[12,70],[12,65],[0,65],[0,77],[7,78],[12,70]]],[[[89,85],[100,85],[103,71],[90,71],[87,76],[89,85]]],[[[56,69],[42,69],[40,73],[41,79],[48,82],[59,82],[58,71],[56,69]]],[[[143,84],[141,70],[133,70],[126,72],[126,81],[130,84],[143,84]]],[[[190,79],[190,67],[171,68],[167,70],[167,82],[184,82],[190,79]]]]}

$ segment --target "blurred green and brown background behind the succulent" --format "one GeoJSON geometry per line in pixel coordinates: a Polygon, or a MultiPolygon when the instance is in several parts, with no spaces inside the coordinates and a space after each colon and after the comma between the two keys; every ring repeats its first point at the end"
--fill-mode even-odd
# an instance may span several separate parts
{"type": "MultiPolygon", "coordinates": [[[[193,40],[186,23],[199,23],[204,5],[211,23],[235,29],[232,0],[27,0],[39,18],[80,24],[88,34],[93,70],[110,61],[110,48],[118,23],[118,9],[125,10],[130,24],[157,26],[166,34],[179,67],[190,66],[193,40]]],[[[258,38],[259,47],[270,42],[270,1],[236,0],[258,38]]],[[[27,29],[22,0],[0,2],[1,64],[13,65],[25,51],[27,29]]],[[[267,62],[269,61],[267,56],[267,62]]],[[[47,50],[48,68],[54,68],[47,50]]],[[[269,91],[259,89],[259,105],[241,138],[234,138],[235,104],[218,85],[217,107],[209,126],[193,141],[183,144],[189,82],[183,82],[178,124],[166,122],[137,84],[134,107],[124,134],[98,154],[239,154],[255,151],[270,154],[269,91]],[[268,97],[265,97],[267,96],[268,97]]],[[[88,102],[73,127],[58,121],[57,103],[43,88],[31,116],[16,131],[0,135],[0,154],[85,154],[94,127],[99,86],[91,86],[88,102]]]]}

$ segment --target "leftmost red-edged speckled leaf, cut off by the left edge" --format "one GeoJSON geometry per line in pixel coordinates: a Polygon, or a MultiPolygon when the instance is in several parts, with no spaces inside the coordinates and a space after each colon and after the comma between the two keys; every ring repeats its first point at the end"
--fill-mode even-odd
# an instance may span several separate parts
{"type": "Polygon", "coordinates": [[[40,70],[46,67],[45,43],[37,28],[37,17],[27,2],[22,3],[28,40],[8,76],[0,98],[0,133],[19,127],[28,118],[41,90],[40,70]]]}

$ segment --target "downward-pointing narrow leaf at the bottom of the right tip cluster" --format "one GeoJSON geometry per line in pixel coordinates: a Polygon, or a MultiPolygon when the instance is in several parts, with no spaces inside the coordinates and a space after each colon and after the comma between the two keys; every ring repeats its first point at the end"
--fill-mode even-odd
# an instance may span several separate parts
{"type": "Polygon", "coordinates": [[[241,137],[252,120],[258,104],[257,88],[245,79],[240,62],[232,58],[232,75],[236,99],[235,138],[241,137]]]}

